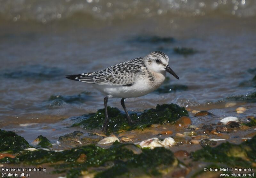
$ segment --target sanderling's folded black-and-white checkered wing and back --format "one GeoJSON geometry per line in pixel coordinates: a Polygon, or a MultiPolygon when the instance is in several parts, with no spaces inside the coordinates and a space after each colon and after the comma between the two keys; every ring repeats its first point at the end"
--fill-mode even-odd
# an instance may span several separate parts
{"type": "Polygon", "coordinates": [[[139,57],[92,73],[69,75],[66,78],[85,83],[113,86],[131,86],[145,67],[144,57],[139,57]]]}

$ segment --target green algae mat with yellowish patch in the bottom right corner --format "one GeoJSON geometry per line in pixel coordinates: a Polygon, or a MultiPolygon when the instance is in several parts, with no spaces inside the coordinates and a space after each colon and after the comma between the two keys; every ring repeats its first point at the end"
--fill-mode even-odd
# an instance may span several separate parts
{"type": "Polygon", "coordinates": [[[229,142],[216,147],[204,146],[203,149],[191,152],[194,161],[221,163],[228,166],[251,167],[256,161],[256,136],[240,145],[229,142]]]}

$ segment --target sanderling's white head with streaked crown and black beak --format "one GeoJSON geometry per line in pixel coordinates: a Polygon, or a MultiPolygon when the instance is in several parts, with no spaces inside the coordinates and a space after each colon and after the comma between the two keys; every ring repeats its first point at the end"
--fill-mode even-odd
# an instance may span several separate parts
{"type": "Polygon", "coordinates": [[[163,73],[165,71],[172,74],[175,78],[179,77],[169,67],[169,57],[161,51],[154,51],[144,57],[144,63],[149,70],[157,73],[163,73]]]}

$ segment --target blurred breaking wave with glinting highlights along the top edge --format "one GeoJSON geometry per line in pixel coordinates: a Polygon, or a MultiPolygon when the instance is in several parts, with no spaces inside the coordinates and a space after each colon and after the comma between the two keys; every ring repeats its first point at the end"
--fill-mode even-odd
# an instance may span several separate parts
{"type": "Polygon", "coordinates": [[[68,18],[116,20],[164,16],[254,17],[255,0],[0,0],[0,17],[47,23],[68,18]]]}

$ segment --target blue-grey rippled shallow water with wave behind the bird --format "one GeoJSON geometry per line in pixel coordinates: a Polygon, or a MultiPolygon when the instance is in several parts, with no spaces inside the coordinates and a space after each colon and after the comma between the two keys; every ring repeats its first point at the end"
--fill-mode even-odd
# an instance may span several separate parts
{"type": "MultiPolygon", "coordinates": [[[[2,1],[0,128],[20,131],[30,141],[42,133],[55,140],[74,131],[63,129],[69,124],[62,119],[103,108],[104,96],[65,75],[93,72],[155,50],[169,56],[180,77],[169,76],[167,84],[188,89],[128,99],[128,110],[176,103],[191,110],[212,109],[219,117],[237,116],[235,108],[225,108],[225,98],[256,90],[250,83],[256,74],[255,9],[255,1],[248,0],[217,5],[178,0],[2,1]],[[196,52],[177,54],[175,47],[196,52]],[[38,124],[20,126],[24,123],[38,124]]],[[[120,99],[108,104],[122,109],[120,99]]],[[[245,106],[250,108],[246,115],[256,114],[255,104],[245,106]]]]}

